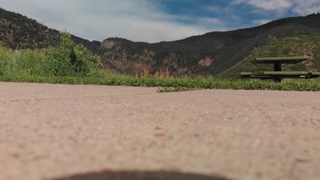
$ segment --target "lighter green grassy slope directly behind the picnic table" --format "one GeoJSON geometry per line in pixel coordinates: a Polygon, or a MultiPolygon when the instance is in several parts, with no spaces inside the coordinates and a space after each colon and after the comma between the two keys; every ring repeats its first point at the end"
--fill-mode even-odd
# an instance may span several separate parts
{"type": "Polygon", "coordinates": [[[224,78],[237,78],[240,72],[273,71],[273,65],[253,64],[257,57],[309,56],[310,60],[295,65],[283,65],[285,71],[320,71],[320,33],[284,37],[271,40],[266,46],[258,48],[243,61],[219,74],[224,78]]]}

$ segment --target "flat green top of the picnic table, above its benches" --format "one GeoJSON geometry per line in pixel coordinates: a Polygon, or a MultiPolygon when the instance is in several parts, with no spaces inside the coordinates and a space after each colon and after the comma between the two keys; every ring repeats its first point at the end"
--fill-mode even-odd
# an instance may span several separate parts
{"type": "Polygon", "coordinates": [[[302,61],[306,61],[310,59],[310,57],[262,57],[257,58],[256,61],[252,63],[299,63],[302,61]]]}

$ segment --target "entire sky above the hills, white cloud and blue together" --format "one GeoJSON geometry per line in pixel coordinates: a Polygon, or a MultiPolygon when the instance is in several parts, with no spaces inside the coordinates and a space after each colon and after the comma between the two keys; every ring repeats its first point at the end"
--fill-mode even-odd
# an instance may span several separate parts
{"type": "Polygon", "coordinates": [[[88,40],[179,40],[320,12],[319,0],[0,0],[18,12],[88,40]]]}

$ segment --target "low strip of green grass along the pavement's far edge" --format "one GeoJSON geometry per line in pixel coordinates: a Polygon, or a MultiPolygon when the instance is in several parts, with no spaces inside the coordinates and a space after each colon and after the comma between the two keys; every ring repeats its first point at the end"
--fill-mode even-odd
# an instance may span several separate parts
{"type": "Polygon", "coordinates": [[[215,78],[136,78],[132,76],[0,76],[2,82],[37,82],[69,85],[109,85],[131,87],[166,87],[161,92],[189,91],[195,89],[248,89],[279,91],[320,91],[319,80],[219,80],[215,78]],[[173,88],[173,89],[170,89],[173,88]]]}

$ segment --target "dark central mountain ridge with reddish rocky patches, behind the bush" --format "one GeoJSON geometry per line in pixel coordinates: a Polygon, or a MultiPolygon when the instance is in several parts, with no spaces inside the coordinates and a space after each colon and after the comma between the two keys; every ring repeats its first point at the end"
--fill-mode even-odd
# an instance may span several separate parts
{"type": "Polygon", "coordinates": [[[148,44],[109,38],[102,42],[104,61],[120,72],[139,74],[169,70],[184,74],[218,74],[239,63],[271,40],[320,32],[320,14],[284,18],[266,25],[212,32],[175,42],[148,44]]]}

